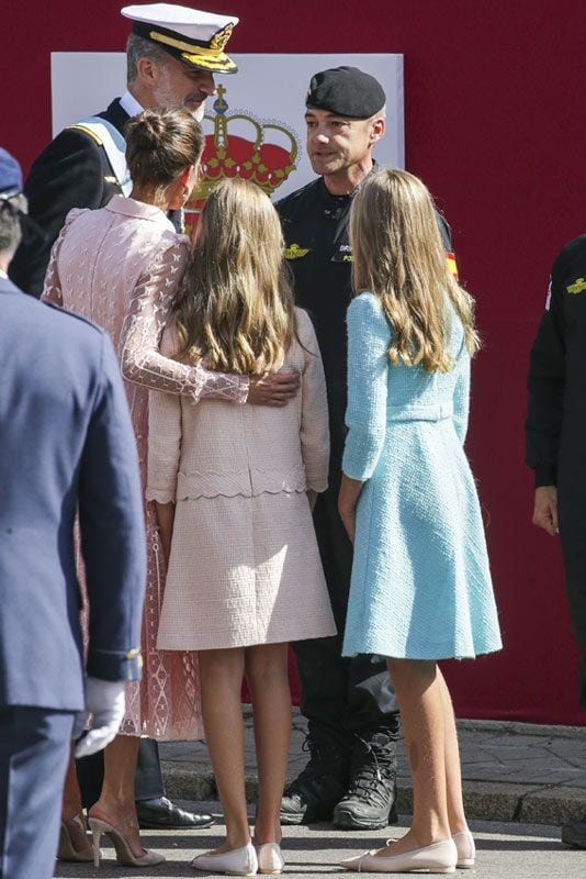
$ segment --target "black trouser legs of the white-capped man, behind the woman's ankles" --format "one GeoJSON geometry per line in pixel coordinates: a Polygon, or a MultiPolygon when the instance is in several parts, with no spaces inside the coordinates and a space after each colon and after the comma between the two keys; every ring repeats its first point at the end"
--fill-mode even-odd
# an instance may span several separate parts
{"type": "MultiPolygon", "coordinates": [[[[103,750],[76,760],[77,778],[81,790],[81,802],[86,809],[93,805],[100,797],[104,778],[103,750]]],[[[165,795],[165,786],[159,763],[159,748],[151,738],[142,738],[138,748],[138,764],[134,778],[136,800],[150,800],[165,795]]]]}

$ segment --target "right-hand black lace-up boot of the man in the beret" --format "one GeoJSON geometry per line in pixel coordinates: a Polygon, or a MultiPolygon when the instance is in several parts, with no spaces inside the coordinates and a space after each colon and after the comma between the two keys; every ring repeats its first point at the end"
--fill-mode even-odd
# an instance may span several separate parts
{"type": "Polygon", "coordinates": [[[334,824],[342,830],[379,830],[395,824],[397,755],[385,732],[368,741],[357,736],[350,765],[350,785],[334,810],[334,824]]]}

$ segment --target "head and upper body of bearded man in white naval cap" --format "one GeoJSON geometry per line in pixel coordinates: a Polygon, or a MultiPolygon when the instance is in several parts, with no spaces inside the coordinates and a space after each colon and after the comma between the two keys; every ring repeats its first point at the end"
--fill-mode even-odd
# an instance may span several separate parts
{"type": "MultiPolygon", "coordinates": [[[[215,94],[214,74],[234,74],[224,47],[235,15],[216,15],[172,3],[124,7],[133,22],[126,45],[126,91],[108,110],[68,125],[41,153],[24,186],[30,215],[45,232],[29,237],[11,266],[22,290],[40,297],[50,248],[71,208],[101,208],[113,194],[129,193],[124,125],[157,107],[181,107],[201,120],[215,94]]],[[[173,219],[173,218],[171,218],[173,219]]]]}

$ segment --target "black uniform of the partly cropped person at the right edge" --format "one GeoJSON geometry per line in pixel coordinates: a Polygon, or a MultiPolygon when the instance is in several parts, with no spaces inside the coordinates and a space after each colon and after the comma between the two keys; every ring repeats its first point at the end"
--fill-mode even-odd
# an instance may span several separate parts
{"type": "Polygon", "coordinates": [[[586,235],[553,264],[529,367],[527,464],[536,487],[557,486],[560,537],[586,710],[586,235]]]}

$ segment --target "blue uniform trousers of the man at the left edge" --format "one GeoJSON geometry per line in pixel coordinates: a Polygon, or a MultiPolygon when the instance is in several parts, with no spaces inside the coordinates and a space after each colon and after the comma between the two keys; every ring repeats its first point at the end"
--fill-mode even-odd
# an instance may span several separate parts
{"type": "Polygon", "coordinates": [[[0,708],[0,877],[50,879],[75,712],[0,708]]]}

